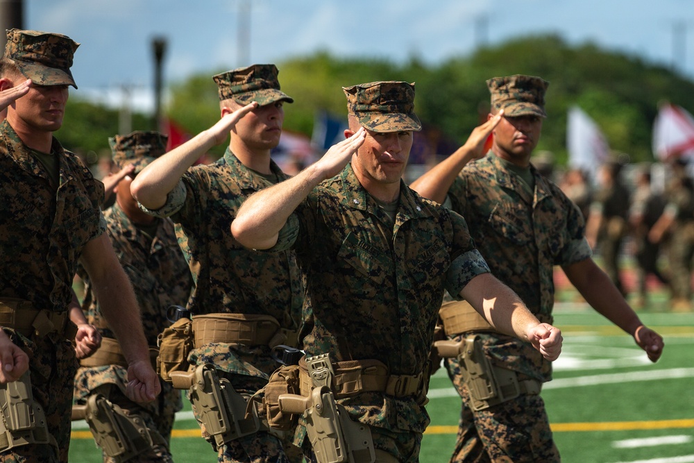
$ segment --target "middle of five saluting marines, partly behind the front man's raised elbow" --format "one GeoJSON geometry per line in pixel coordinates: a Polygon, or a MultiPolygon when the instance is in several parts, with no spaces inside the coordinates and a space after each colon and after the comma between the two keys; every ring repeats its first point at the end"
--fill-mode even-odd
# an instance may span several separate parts
{"type": "MultiPolygon", "coordinates": [[[[294,253],[267,254],[245,249],[229,230],[239,206],[249,195],[287,178],[269,155],[279,142],[284,118],[282,103],[294,101],[280,91],[277,76],[274,65],[253,65],[214,76],[219,87],[221,121],[162,156],[158,160],[162,164],[154,162],[133,184],[139,183],[140,191],[135,190],[135,196],[144,210],[176,222],[178,244],[194,278],[194,290],[187,304],[194,330],[202,315],[239,314],[251,319],[269,316],[282,329],[298,332],[303,282],[294,253]],[[252,101],[257,102],[255,107],[234,111],[252,101]],[[227,122],[229,126],[224,125],[227,122]],[[187,168],[207,149],[224,140],[232,126],[235,130],[223,158],[211,165],[187,168]],[[216,132],[216,140],[209,139],[212,132],[216,132]],[[181,164],[166,165],[180,153],[187,156],[181,164]],[[169,175],[165,191],[159,190],[169,193],[165,201],[159,197],[152,201],[146,191],[142,192],[148,185],[153,189],[162,185],[145,176],[149,170],[151,174],[169,175]]],[[[280,367],[271,356],[267,340],[264,344],[232,339],[196,344],[189,362],[213,364],[218,375],[228,378],[239,394],[254,394],[280,367]]],[[[203,436],[210,437],[204,426],[203,436]]],[[[280,442],[268,432],[236,439],[217,451],[220,462],[286,461],[280,442]]]]}

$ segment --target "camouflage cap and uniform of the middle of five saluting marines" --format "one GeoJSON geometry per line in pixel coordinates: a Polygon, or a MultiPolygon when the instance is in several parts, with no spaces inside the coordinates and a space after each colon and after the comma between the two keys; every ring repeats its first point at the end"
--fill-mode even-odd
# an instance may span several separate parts
{"type": "MultiPolygon", "coordinates": [[[[242,104],[293,101],[279,92],[274,65],[256,65],[241,73],[246,69],[251,71],[247,74],[250,77],[241,83],[230,82],[239,76],[233,74],[235,71],[215,76],[220,99],[234,98],[242,104]],[[255,84],[264,87],[253,87],[255,84]],[[245,94],[234,93],[239,86],[244,91],[257,90],[256,99],[245,101],[245,94]]],[[[231,221],[248,196],[287,178],[274,162],[270,169],[269,179],[245,167],[227,149],[217,162],[188,169],[169,193],[167,203],[159,210],[149,211],[159,217],[170,216],[176,222],[178,244],[194,280],[187,305],[194,318],[215,313],[269,315],[282,328],[298,330],[303,280],[294,252],[269,254],[248,250],[230,232],[231,221]]],[[[192,365],[214,364],[220,378],[228,378],[239,394],[254,394],[262,389],[271,373],[280,367],[266,345],[210,343],[196,346],[188,358],[192,365]]],[[[204,426],[203,436],[209,439],[204,426]]],[[[242,437],[217,451],[220,462],[246,462],[249,457],[251,461],[287,461],[280,441],[267,432],[242,437]]]]}

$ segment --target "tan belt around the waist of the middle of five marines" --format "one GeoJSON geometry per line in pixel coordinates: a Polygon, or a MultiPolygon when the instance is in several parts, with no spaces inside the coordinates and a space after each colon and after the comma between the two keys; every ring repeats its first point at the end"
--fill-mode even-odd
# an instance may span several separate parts
{"type": "Polygon", "coordinates": [[[280,323],[269,315],[205,314],[193,316],[193,335],[196,347],[211,342],[271,346],[273,337],[282,333],[280,323]]]}

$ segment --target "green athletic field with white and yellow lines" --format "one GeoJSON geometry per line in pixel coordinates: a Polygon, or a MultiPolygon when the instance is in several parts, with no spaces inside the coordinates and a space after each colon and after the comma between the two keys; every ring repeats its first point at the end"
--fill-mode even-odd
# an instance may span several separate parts
{"type": "MultiPolygon", "coordinates": [[[[631,337],[584,303],[572,302],[574,294],[561,297],[555,325],[564,333],[564,350],[542,396],[562,461],[694,463],[694,313],[666,312],[664,296],[638,312],[665,338],[663,357],[651,364],[631,337]]],[[[432,378],[429,396],[432,424],[421,462],[447,462],[459,398],[445,371],[432,378]]],[[[90,432],[74,425],[70,461],[100,461],[90,432]]],[[[189,406],[176,421],[171,447],[177,462],[217,461],[189,406]]]]}

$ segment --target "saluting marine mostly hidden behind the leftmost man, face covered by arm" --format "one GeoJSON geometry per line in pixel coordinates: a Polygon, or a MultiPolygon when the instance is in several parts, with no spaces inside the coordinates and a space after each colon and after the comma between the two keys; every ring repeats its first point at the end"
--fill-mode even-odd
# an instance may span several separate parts
{"type": "MultiPolygon", "coordinates": [[[[116,202],[104,212],[106,231],[128,278],[142,312],[142,326],[152,351],[157,337],[171,323],[167,310],[171,305],[185,305],[190,296],[192,278],[183,254],[178,248],[174,223],[145,214],[130,194],[130,183],[146,165],[166,151],[167,136],[158,132],[133,132],[109,139],[112,157],[119,169],[133,165],[134,170],[117,185],[116,202]]],[[[85,276],[85,315],[99,328],[104,339],[115,341],[101,305],[85,276]]],[[[110,345],[109,351],[119,350],[110,345]]],[[[101,352],[105,351],[102,349],[101,352]]],[[[153,447],[129,462],[171,462],[169,444],[174,416],[181,410],[181,393],[169,382],[160,380],[162,394],[147,404],[137,404],[125,395],[128,382],[126,364],[121,355],[107,356],[97,352],[83,360],[75,378],[75,403],[83,405],[92,394],[101,394],[130,416],[139,416],[153,436],[153,447]]],[[[114,461],[104,455],[105,462],[114,461]]]]}

